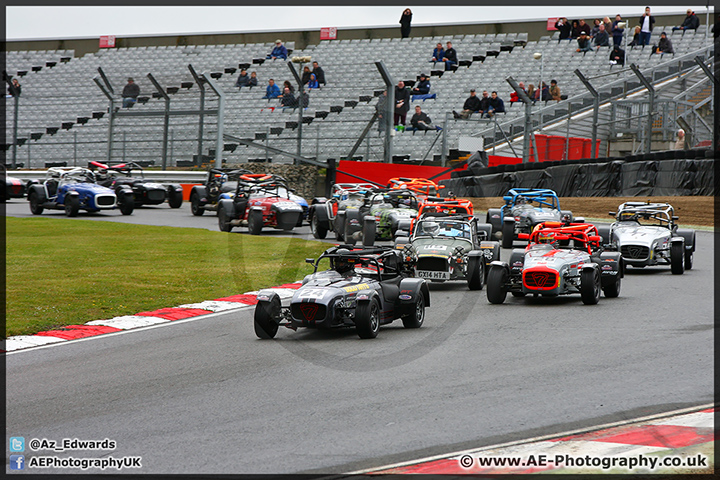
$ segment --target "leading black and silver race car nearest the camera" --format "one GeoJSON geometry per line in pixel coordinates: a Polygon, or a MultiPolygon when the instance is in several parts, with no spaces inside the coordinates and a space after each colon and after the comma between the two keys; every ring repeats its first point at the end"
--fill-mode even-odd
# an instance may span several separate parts
{"type": "Polygon", "coordinates": [[[355,327],[360,338],[375,338],[380,325],[398,318],[405,328],[422,326],[430,292],[425,280],[409,277],[412,266],[399,251],[340,245],[306,261],[315,273],[303,279],[290,306],[283,307],[272,290],[258,292],[258,337],[275,337],[280,325],[292,330],[355,327]]]}

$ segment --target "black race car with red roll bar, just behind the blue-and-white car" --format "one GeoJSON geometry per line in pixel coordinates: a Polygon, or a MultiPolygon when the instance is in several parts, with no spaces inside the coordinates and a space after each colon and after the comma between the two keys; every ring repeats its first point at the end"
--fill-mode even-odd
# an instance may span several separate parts
{"type": "Polygon", "coordinates": [[[93,161],[88,164],[88,168],[95,170],[95,179],[98,185],[113,190],[118,190],[121,186],[132,188],[136,207],[160,205],[165,200],[170,208],[180,208],[182,205],[182,185],[179,183],[163,185],[146,180],[142,167],[135,162],[106,165],[93,161]]]}

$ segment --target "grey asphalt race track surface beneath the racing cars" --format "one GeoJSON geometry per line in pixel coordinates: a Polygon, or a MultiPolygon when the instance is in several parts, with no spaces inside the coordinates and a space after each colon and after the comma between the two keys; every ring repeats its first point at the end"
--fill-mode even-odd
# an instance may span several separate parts
{"type": "MultiPolygon", "coordinates": [[[[30,216],[27,203],[7,215],[30,216]]],[[[187,204],[68,221],[84,218],[217,229],[187,204]]],[[[697,240],[691,271],[629,269],[621,296],[595,306],[490,305],[485,290],[433,284],[421,329],[396,322],[374,340],[259,340],[248,308],[11,353],[7,434],[109,438],[110,452],[26,455],[142,456],[128,473],[342,473],[706,404],[714,253],[711,233],[697,240]]]]}

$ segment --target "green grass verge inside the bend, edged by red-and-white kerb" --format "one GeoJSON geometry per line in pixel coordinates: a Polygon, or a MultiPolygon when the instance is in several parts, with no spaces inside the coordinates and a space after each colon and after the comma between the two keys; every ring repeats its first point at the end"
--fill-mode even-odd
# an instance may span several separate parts
{"type": "Polygon", "coordinates": [[[237,295],[310,273],[328,244],[195,228],[6,218],[5,335],[237,295]]]}

